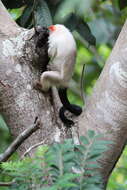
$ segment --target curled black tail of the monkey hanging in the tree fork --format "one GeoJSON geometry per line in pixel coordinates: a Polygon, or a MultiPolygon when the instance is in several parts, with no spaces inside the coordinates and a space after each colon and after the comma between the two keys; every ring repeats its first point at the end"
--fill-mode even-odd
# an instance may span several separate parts
{"type": "Polygon", "coordinates": [[[58,89],[60,100],[63,104],[63,107],[60,109],[59,116],[61,120],[67,125],[74,124],[73,121],[66,118],[64,115],[64,112],[66,110],[70,111],[76,116],[79,116],[82,113],[82,108],[80,106],[77,106],[75,104],[70,104],[68,98],[67,98],[67,88],[60,88],[58,89]]]}

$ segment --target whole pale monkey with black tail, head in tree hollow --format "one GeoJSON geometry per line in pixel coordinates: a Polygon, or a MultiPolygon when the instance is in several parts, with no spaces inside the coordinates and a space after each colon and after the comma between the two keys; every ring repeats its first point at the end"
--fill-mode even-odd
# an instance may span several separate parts
{"type": "Polygon", "coordinates": [[[48,27],[48,70],[40,76],[40,85],[43,92],[47,92],[50,87],[55,86],[63,106],[59,110],[59,117],[62,122],[71,127],[74,122],[65,116],[65,111],[79,116],[82,113],[80,106],[70,104],[67,98],[67,89],[72,78],[76,63],[76,42],[73,35],[62,24],[48,27]]]}

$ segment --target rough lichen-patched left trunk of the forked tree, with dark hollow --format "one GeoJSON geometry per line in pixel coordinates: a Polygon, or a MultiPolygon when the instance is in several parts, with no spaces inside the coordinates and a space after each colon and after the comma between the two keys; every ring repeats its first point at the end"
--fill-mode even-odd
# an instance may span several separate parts
{"type": "Polygon", "coordinates": [[[35,81],[39,80],[39,70],[35,67],[37,54],[31,39],[34,29],[26,30],[17,26],[0,1],[1,11],[0,112],[14,137],[32,126],[36,117],[41,122],[40,129],[19,148],[20,154],[23,154],[42,139],[45,143],[52,143],[64,136],[58,117],[60,101],[56,89],[47,94],[34,89],[35,81]],[[3,29],[5,19],[8,28],[3,29]]]}

